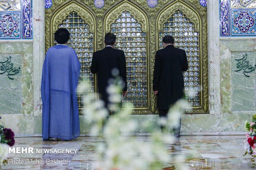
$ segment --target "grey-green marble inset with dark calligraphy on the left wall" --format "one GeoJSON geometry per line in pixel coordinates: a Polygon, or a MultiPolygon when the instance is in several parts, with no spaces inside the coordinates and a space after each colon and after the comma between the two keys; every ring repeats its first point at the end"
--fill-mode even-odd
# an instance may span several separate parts
{"type": "Polygon", "coordinates": [[[22,112],[21,54],[0,54],[0,114],[22,112]]]}

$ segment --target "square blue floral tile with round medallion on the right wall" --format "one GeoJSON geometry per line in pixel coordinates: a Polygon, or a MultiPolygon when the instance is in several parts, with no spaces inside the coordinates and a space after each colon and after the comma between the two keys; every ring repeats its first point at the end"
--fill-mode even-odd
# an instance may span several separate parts
{"type": "Polygon", "coordinates": [[[232,9],[232,35],[256,35],[256,9],[232,9]]]}

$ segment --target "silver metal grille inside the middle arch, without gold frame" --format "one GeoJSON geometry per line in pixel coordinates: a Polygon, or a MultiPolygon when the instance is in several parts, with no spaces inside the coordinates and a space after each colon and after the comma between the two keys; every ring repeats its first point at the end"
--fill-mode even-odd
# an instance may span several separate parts
{"type": "Polygon", "coordinates": [[[146,33],[128,11],[111,24],[111,32],[116,35],[116,47],[125,52],[127,66],[127,96],[124,102],[132,102],[133,107],[147,107],[147,54],[146,33]]]}

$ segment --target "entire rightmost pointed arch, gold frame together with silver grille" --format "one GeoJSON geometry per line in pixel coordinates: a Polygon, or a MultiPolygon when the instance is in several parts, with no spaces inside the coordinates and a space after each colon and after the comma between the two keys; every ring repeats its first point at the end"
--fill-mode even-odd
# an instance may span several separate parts
{"type": "Polygon", "coordinates": [[[163,48],[162,38],[165,35],[172,35],[175,47],[186,51],[189,69],[183,77],[186,100],[192,109],[190,113],[208,112],[206,33],[207,26],[201,14],[182,0],[164,7],[156,19],[156,50],[163,48]]]}

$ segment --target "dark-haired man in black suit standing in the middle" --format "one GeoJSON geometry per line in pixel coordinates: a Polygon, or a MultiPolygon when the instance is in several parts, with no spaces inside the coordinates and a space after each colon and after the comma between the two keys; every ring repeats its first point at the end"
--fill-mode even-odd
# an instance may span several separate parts
{"type": "Polygon", "coordinates": [[[93,53],[90,70],[93,74],[97,73],[98,75],[99,97],[105,102],[105,107],[109,110],[107,86],[109,86],[109,79],[115,78],[112,74],[113,69],[119,71],[119,76],[123,81],[123,96],[127,93],[126,59],[122,50],[114,49],[116,35],[107,33],[104,42],[106,47],[93,53]]]}

